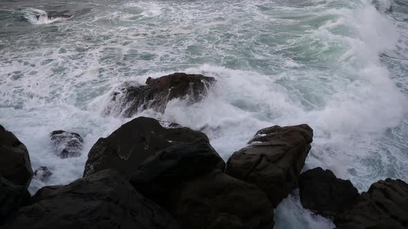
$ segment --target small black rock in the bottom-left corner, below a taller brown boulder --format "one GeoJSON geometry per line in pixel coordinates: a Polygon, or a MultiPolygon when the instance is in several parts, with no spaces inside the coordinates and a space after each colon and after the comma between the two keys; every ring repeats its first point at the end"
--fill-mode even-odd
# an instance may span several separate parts
{"type": "Polygon", "coordinates": [[[27,188],[0,177],[0,225],[28,203],[29,199],[30,193],[27,188]]]}

